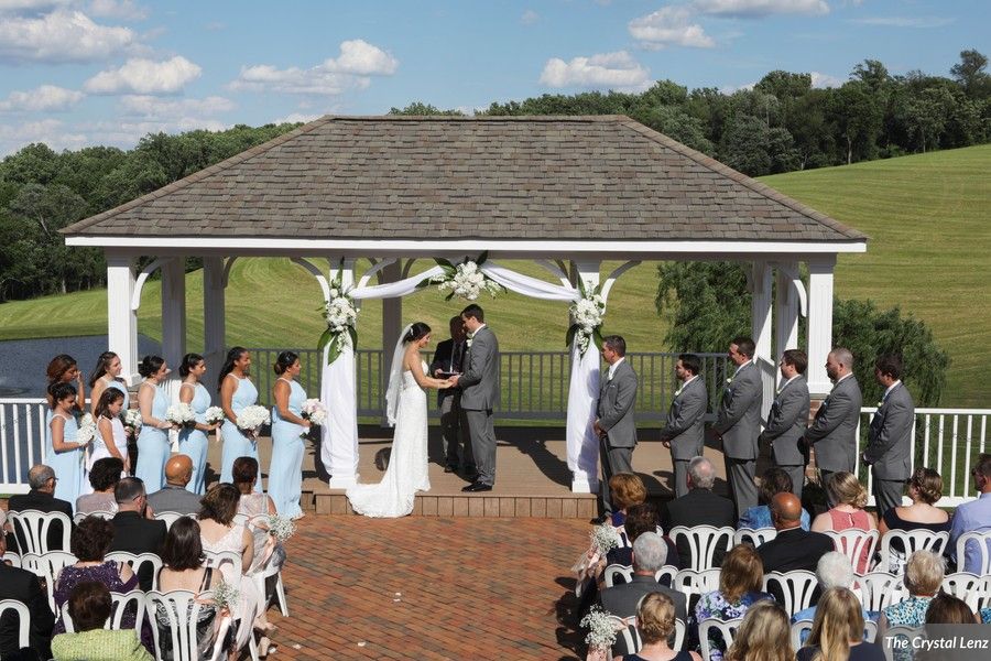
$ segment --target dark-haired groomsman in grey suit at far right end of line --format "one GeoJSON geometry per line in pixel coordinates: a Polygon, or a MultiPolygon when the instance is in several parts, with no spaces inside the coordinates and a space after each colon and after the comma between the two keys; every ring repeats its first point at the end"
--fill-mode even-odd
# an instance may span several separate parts
{"type": "Polygon", "coordinates": [[[878,518],[883,519],[884,512],[902,503],[902,488],[912,472],[915,402],[902,383],[902,360],[897,356],[878,358],[874,378],[885,390],[871,419],[863,463],[871,467],[878,518]]]}

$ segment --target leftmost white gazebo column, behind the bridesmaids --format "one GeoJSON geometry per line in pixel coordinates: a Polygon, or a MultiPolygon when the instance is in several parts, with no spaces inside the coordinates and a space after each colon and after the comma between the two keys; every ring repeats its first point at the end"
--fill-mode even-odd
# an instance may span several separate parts
{"type": "Polygon", "coordinates": [[[138,310],[131,308],[135,277],[133,259],[111,251],[107,258],[107,348],[120,356],[120,376],[138,382],[138,310]]]}

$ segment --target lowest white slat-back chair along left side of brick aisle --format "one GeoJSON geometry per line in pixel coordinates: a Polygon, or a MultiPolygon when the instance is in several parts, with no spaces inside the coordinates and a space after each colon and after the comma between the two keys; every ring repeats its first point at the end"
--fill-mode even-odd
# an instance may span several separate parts
{"type": "MultiPolygon", "coordinates": [[[[149,592],[145,595],[144,605],[148,618],[153,625],[152,633],[155,639],[155,651],[157,652],[162,649],[162,640],[167,636],[172,641],[174,661],[198,661],[196,624],[199,620],[200,609],[208,605],[206,602],[209,602],[210,598],[213,598],[211,592],[205,592],[198,596],[185,589],[168,593],[149,592]],[[163,627],[163,621],[160,619],[159,614],[162,614],[162,618],[166,620],[166,626],[163,627]]],[[[217,631],[210,659],[221,659],[224,640],[227,638],[229,628],[230,618],[220,620],[220,628],[217,631]]],[[[159,653],[155,655],[161,658],[159,653]]]]}

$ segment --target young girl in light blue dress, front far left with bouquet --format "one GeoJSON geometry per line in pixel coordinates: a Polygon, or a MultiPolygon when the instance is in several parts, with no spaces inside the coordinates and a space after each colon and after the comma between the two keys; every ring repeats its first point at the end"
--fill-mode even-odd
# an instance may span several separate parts
{"type": "Polygon", "coordinates": [[[76,388],[72,383],[55,382],[48,389],[53,402],[52,419],[46,435],[45,463],[55,472],[55,498],[76,502],[83,495],[83,451],[88,443],[79,443],[76,435],[76,388]]]}

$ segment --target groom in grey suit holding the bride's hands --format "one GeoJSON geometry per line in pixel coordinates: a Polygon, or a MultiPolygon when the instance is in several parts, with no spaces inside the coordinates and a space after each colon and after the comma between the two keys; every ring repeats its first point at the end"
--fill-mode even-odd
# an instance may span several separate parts
{"type": "Polygon", "coordinates": [[[461,311],[468,332],[468,356],[464,373],[454,377],[461,388],[461,410],[468,421],[471,452],[478,466],[475,481],[462,491],[491,491],[496,484],[496,425],[492,407],[499,392],[499,340],[486,325],[486,313],[472,303],[461,311]]]}

